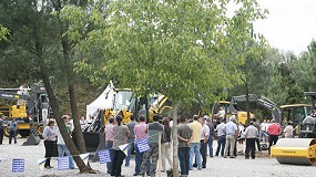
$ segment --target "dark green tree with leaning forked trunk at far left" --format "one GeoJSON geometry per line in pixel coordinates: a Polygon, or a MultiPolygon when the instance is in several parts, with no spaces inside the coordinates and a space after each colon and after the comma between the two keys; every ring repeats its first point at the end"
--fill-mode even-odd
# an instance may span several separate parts
{"type": "MultiPolygon", "coordinates": [[[[42,79],[47,93],[50,97],[50,104],[53,110],[54,117],[58,122],[59,129],[63,136],[63,139],[69,147],[73,158],[80,168],[81,173],[93,173],[90,166],[86,166],[79,157],[79,150],[74,143],[67,133],[65,125],[61,118],[60,103],[53,92],[50,83],[50,76],[57,76],[65,81],[71,100],[72,115],[74,119],[74,131],[77,135],[77,142],[79,142],[79,148],[81,153],[85,153],[85,146],[83,142],[82,132],[79,124],[79,116],[77,114],[77,103],[74,97],[72,66],[73,60],[71,60],[71,43],[63,35],[68,28],[62,23],[59,15],[52,15],[51,12],[60,12],[62,6],[67,3],[75,3],[77,1],[6,1],[1,2],[1,20],[6,22],[6,27],[12,34],[8,37],[9,42],[6,52],[17,53],[19,50],[23,51],[23,61],[29,64],[27,70],[37,73],[38,77],[42,79]],[[4,12],[9,11],[11,17],[4,15],[4,12]],[[18,49],[18,50],[16,50],[18,49]],[[60,66],[65,65],[65,67],[60,66]],[[67,74],[65,74],[67,73],[67,74]],[[81,135],[81,136],[80,136],[81,135]]],[[[80,2],[80,1],[78,1],[80,2]]],[[[75,3],[81,6],[81,3],[75,3]]],[[[7,13],[9,14],[9,13],[7,13]]],[[[9,61],[12,58],[4,58],[9,61]]]]}

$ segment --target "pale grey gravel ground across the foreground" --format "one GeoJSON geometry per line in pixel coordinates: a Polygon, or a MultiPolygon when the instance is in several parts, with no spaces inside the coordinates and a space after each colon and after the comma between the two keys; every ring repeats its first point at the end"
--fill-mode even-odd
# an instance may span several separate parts
{"type": "MultiPolygon", "coordinates": [[[[105,174],[105,165],[99,163],[91,163],[93,169],[99,170],[95,175],[79,174],[79,169],[71,170],[58,170],[57,160],[51,162],[51,165],[55,168],[40,170],[37,165],[38,159],[42,159],[44,156],[43,142],[37,146],[21,146],[26,138],[18,138],[18,144],[9,145],[8,138],[3,139],[3,144],[0,145],[0,176],[79,176],[79,177],[101,177],[110,176],[105,174]],[[24,173],[12,173],[12,159],[24,158],[26,170],[24,173]]],[[[216,142],[214,142],[214,148],[216,148],[216,142]]],[[[238,149],[243,147],[239,146],[238,149]]],[[[237,158],[223,158],[214,157],[207,159],[207,168],[190,171],[191,177],[315,177],[316,167],[314,166],[294,166],[294,165],[281,165],[275,158],[271,158],[266,155],[266,152],[258,153],[256,159],[244,159],[243,156],[237,158]]],[[[128,177],[134,173],[134,159],[131,160],[130,167],[122,167],[122,175],[128,177]]],[[[163,177],[166,174],[162,174],[163,177]]]]}

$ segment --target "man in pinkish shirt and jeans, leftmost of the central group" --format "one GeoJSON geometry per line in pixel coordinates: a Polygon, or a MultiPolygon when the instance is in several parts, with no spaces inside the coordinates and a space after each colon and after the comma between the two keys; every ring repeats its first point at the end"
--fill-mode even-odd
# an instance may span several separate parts
{"type": "Polygon", "coordinates": [[[105,148],[109,149],[110,152],[110,158],[111,162],[106,163],[106,168],[108,168],[108,174],[112,174],[112,162],[113,162],[113,157],[114,157],[114,152],[113,152],[113,140],[114,140],[114,132],[113,132],[113,127],[114,127],[114,117],[111,117],[109,119],[109,123],[105,126],[105,148]]]}

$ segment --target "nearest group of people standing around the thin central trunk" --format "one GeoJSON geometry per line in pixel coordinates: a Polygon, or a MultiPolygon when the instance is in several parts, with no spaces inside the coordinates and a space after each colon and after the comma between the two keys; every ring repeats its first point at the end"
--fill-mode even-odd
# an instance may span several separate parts
{"type": "MultiPolygon", "coordinates": [[[[172,157],[172,123],[169,117],[153,116],[153,122],[146,124],[144,116],[135,118],[122,125],[122,117],[111,117],[105,125],[105,146],[110,149],[111,162],[106,164],[106,173],[111,176],[122,176],[121,168],[124,164],[130,166],[132,149],[135,152],[135,169],[133,176],[156,176],[157,162],[161,159],[162,173],[171,171],[172,157]],[[161,135],[161,139],[159,138],[161,135]],[[140,152],[137,142],[147,139],[150,149],[140,152]],[[159,142],[161,140],[161,142],[159,142]],[[120,145],[129,144],[129,153],[125,156],[119,149],[120,145]],[[161,155],[159,155],[161,144],[161,155]]],[[[198,170],[206,168],[207,149],[208,156],[213,157],[213,139],[215,128],[212,119],[207,116],[193,118],[182,117],[177,125],[179,163],[181,176],[188,176],[188,171],[196,167],[198,170]],[[208,146],[208,148],[207,148],[208,146]]]]}

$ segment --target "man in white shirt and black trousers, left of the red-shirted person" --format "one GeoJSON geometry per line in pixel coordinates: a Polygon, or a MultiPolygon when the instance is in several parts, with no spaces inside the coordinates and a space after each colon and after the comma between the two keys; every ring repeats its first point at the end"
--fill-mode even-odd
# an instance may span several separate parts
{"type": "Polygon", "coordinates": [[[246,152],[245,152],[245,158],[249,158],[249,152],[252,155],[252,159],[255,159],[255,152],[256,152],[256,139],[258,136],[258,129],[254,126],[254,123],[251,122],[249,126],[245,131],[245,138],[246,138],[246,152]]]}

